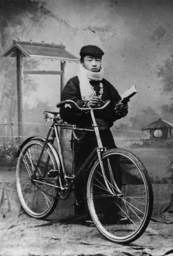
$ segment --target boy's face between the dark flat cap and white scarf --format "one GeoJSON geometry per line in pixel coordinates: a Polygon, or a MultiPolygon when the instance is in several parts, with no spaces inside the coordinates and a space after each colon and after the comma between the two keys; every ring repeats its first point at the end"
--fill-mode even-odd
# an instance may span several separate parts
{"type": "Polygon", "coordinates": [[[82,65],[89,71],[99,72],[102,65],[102,57],[85,56],[82,65]]]}

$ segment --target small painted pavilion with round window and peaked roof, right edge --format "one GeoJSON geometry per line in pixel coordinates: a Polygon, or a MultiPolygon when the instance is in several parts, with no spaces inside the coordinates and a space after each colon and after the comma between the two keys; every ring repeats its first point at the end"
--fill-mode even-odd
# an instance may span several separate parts
{"type": "Polygon", "coordinates": [[[146,125],[141,130],[147,130],[150,139],[169,139],[173,135],[173,123],[160,118],[159,120],[146,125]]]}

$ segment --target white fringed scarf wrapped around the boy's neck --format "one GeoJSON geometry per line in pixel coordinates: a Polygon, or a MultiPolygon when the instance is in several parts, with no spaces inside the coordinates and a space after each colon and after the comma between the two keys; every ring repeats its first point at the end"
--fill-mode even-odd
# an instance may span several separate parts
{"type": "Polygon", "coordinates": [[[83,100],[89,100],[92,96],[96,94],[89,80],[102,81],[103,76],[104,76],[103,68],[101,68],[100,72],[92,72],[85,69],[80,63],[78,78],[79,78],[81,97],[83,100]]]}

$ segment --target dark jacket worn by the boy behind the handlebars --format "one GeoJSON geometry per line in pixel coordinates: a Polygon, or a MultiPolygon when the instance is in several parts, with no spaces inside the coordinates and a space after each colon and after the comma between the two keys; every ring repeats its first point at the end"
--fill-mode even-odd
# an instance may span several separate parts
{"type": "MultiPolygon", "coordinates": [[[[100,91],[100,82],[101,81],[90,81],[90,84],[93,86],[96,95],[99,95],[100,91]]],[[[113,125],[113,122],[117,119],[120,119],[120,116],[115,113],[114,108],[115,104],[121,100],[120,95],[118,94],[117,90],[112,86],[110,82],[106,79],[102,80],[103,83],[103,95],[102,100],[110,100],[111,102],[107,107],[103,110],[95,110],[94,115],[95,118],[103,119],[109,122],[109,126],[113,125]]],[[[79,79],[78,76],[71,78],[67,83],[62,92],[61,100],[71,99],[75,101],[80,107],[82,107],[85,103],[84,100],[81,98],[80,86],[79,86],[79,79]]],[[[80,126],[86,126],[91,121],[90,114],[83,114],[79,115],[77,110],[69,109],[69,108],[60,108],[60,115],[61,118],[72,124],[77,124],[80,126]]]]}

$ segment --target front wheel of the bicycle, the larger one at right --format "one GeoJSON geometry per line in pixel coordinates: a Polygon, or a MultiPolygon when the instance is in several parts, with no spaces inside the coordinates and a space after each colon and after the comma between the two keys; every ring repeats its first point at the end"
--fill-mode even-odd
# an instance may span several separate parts
{"type": "Polygon", "coordinates": [[[98,160],[87,183],[91,218],[104,237],[120,244],[138,239],[150,222],[153,190],[142,162],[131,152],[103,154],[104,175],[98,160]]]}

